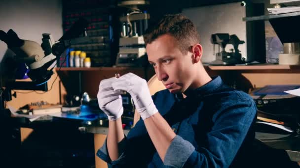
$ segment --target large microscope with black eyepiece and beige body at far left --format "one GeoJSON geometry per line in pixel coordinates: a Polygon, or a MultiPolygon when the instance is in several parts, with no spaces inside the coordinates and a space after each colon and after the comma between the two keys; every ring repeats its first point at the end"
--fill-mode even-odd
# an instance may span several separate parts
{"type": "Polygon", "coordinates": [[[56,42],[49,33],[42,34],[42,44],[35,41],[20,39],[16,32],[9,29],[7,32],[0,30],[0,40],[7,44],[8,49],[14,52],[14,62],[25,64],[23,75],[27,75],[32,81],[15,81],[14,77],[9,77],[2,85],[0,78],[0,111],[4,109],[4,101],[10,101],[11,90],[41,90],[47,91],[47,81],[53,75],[53,67],[50,66],[70,47],[71,40],[86,36],[88,22],[80,18],[75,24],[56,42]],[[48,69],[49,68],[49,69],[48,69]]]}

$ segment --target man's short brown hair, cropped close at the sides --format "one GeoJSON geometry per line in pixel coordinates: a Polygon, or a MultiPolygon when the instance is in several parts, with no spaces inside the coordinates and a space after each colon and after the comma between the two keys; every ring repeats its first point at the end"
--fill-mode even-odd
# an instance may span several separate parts
{"type": "Polygon", "coordinates": [[[148,28],[144,34],[145,44],[150,44],[164,34],[172,35],[184,54],[188,52],[190,46],[200,43],[194,24],[188,17],[181,14],[164,15],[159,22],[148,28]]]}

